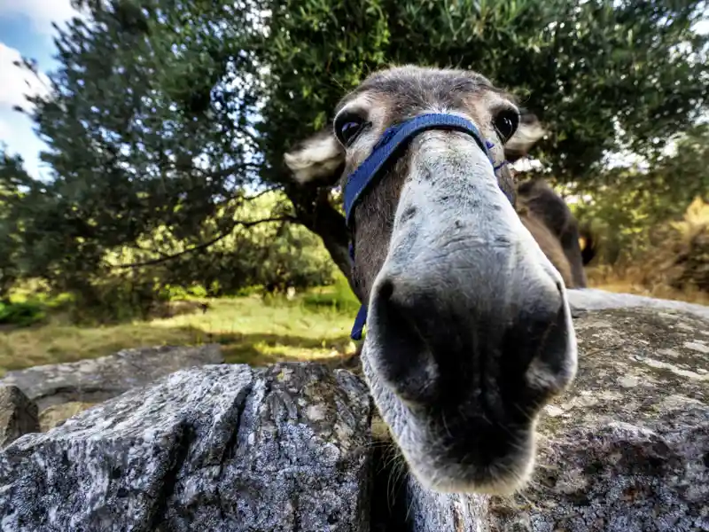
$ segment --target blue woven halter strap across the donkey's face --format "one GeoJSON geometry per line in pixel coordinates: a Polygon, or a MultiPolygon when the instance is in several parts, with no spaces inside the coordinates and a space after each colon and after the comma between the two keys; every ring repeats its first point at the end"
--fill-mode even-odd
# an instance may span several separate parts
{"type": "MultiPolygon", "coordinates": [[[[464,119],[462,116],[457,116],[456,114],[420,114],[408,121],[403,121],[386,129],[381,138],[379,138],[377,145],[374,146],[370,156],[347,177],[344,191],[345,220],[347,227],[351,226],[355,204],[362,198],[362,194],[367,190],[370,184],[381,175],[386,164],[398,158],[399,153],[401,153],[400,148],[406,145],[411,138],[427,129],[452,129],[467,133],[475,139],[482,151],[487,155],[487,159],[490,160],[495,172],[506,164],[506,161],[503,161],[500,165],[495,167],[495,161],[490,155],[490,148],[494,145],[487,142],[482,135],[480,135],[479,129],[476,128],[475,124],[471,121],[464,119]]],[[[508,199],[510,202],[512,201],[509,195],[508,199]]],[[[349,244],[349,256],[354,264],[354,246],[351,241],[349,244]]],[[[359,312],[357,312],[357,317],[354,318],[354,326],[350,334],[353,340],[362,339],[362,330],[366,322],[367,305],[362,304],[359,312]]]]}

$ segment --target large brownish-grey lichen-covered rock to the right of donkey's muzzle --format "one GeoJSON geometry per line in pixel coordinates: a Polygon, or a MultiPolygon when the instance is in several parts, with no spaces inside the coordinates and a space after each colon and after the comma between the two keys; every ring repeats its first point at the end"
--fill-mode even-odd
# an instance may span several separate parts
{"type": "Polygon", "coordinates": [[[575,321],[579,373],[539,424],[534,480],[492,530],[709,530],[709,320],[650,308],[575,321]]]}

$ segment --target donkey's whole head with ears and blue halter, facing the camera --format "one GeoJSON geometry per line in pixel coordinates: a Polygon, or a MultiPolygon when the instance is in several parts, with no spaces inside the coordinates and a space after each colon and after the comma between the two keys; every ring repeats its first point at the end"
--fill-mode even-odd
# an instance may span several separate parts
{"type": "Polygon", "coordinates": [[[576,372],[564,282],[520,222],[503,165],[541,134],[479,74],[402,66],[371,75],[332,129],[285,155],[303,184],[335,184],[344,168],[362,367],[431,489],[517,489],[542,405],[576,372]]]}

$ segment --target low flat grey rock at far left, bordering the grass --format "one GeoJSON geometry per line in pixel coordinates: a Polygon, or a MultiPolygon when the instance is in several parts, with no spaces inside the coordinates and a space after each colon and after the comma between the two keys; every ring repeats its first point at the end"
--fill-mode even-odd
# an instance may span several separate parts
{"type": "Polygon", "coordinates": [[[68,364],[7,372],[0,384],[22,389],[40,411],[61,403],[100,403],[177,370],[224,361],[219,345],[124,349],[68,364]]]}

